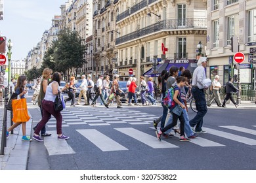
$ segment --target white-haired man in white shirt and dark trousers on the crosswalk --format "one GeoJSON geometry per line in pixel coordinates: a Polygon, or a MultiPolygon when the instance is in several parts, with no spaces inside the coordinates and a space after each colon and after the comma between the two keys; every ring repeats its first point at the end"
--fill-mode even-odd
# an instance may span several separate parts
{"type": "Polygon", "coordinates": [[[205,68],[207,65],[207,58],[201,57],[198,60],[198,67],[196,67],[192,78],[192,95],[196,99],[196,109],[198,110],[196,116],[190,120],[189,124],[192,128],[195,128],[195,133],[207,133],[202,130],[203,116],[207,113],[205,94],[203,90],[207,90],[207,85],[203,82],[206,79],[205,68]]]}

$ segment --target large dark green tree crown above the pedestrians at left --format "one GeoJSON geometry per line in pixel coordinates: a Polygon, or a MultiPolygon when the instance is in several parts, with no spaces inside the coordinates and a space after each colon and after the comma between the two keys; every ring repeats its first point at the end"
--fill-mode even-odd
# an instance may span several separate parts
{"type": "Polygon", "coordinates": [[[58,34],[58,40],[53,41],[43,58],[42,70],[46,67],[64,73],[77,75],[77,68],[85,63],[85,45],[76,31],[64,29],[58,34]],[[75,73],[70,73],[74,71],[75,73]]]}

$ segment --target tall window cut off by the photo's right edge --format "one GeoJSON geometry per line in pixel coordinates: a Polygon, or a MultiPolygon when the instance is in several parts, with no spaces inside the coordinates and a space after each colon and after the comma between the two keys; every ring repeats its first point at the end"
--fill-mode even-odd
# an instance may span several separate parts
{"type": "Polygon", "coordinates": [[[248,14],[248,42],[256,41],[256,9],[248,14]]]}

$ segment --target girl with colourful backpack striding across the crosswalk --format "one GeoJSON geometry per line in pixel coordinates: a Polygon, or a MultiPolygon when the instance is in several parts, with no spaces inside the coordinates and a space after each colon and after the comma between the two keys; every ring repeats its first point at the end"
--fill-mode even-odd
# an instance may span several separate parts
{"type": "Polygon", "coordinates": [[[180,76],[177,78],[177,87],[174,87],[174,93],[173,93],[173,101],[175,101],[175,106],[173,108],[170,108],[170,111],[173,114],[173,122],[169,125],[166,125],[165,127],[160,127],[158,131],[156,131],[156,137],[159,141],[161,141],[161,135],[167,131],[168,129],[171,129],[175,125],[177,125],[178,119],[181,122],[181,138],[179,141],[190,141],[190,139],[185,137],[184,134],[184,124],[185,120],[183,117],[182,108],[186,108],[181,99],[181,87],[184,87],[186,84],[187,79],[184,76],[180,76]]]}

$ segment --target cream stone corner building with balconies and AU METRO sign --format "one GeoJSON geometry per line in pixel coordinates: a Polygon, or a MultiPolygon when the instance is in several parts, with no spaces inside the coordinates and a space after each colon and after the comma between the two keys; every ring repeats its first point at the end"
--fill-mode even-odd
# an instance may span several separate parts
{"type": "Polygon", "coordinates": [[[195,69],[198,42],[206,43],[206,1],[119,0],[116,6],[116,68],[123,80],[129,69],[155,78],[171,65],[195,69]]]}

